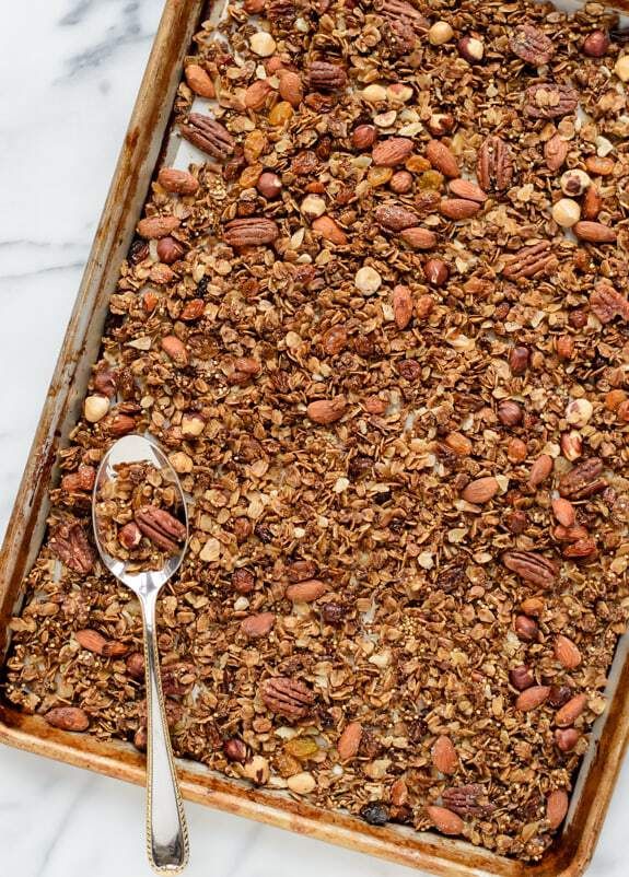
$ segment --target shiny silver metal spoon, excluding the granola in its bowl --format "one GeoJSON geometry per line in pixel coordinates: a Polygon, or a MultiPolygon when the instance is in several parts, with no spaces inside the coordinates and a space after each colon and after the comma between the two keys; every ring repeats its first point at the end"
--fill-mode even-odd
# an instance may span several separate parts
{"type": "Polygon", "coordinates": [[[161,588],[184,559],[189,529],[179,479],[154,442],[141,435],[125,435],[107,451],[94,484],[92,523],[103,563],[116,578],[138,595],[142,607],[147,676],[147,852],[151,867],[159,874],[177,874],[188,862],[188,829],[166,724],[155,634],[155,605],[161,588]],[[127,563],[108,554],[101,542],[96,503],[105,482],[117,478],[114,468],[116,465],[144,461],[160,469],[178,492],[185,515],[186,541],[178,554],[166,559],[161,570],[130,573],[127,572],[127,563]]]}

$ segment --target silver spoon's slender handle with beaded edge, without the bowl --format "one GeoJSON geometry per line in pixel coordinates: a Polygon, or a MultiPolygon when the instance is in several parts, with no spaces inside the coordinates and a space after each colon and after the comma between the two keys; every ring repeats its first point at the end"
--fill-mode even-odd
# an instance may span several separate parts
{"type": "Polygon", "coordinates": [[[158,874],[178,874],[188,862],[188,828],[166,724],[160,674],[158,590],[140,597],[147,670],[147,851],[158,874]]]}

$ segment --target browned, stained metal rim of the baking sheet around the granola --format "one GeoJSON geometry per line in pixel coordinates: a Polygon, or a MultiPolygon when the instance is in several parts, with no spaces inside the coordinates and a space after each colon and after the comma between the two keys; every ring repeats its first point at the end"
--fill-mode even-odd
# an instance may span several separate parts
{"type": "MultiPolygon", "coordinates": [[[[629,11],[629,0],[609,4],[629,11]]],[[[0,655],[5,628],[33,561],[34,535],[47,511],[47,490],[58,445],[77,417],[103,315],[118,268],[140,215],[180,75],[182,59],[206,0],[166,0],[160,28],[116,173],[96,232],[50,389],[35,434],[7,536],[0,551],[0,655]]],[[[38,545],[38,543],[37,543],[38,545]]],[[[286,795],[249,788],[178,763],[186,798],[238,816],[326,840],[352,850],[447,877],[578,877],[598,839],[629,732],[629,659],[608,710],[596,756],[568,829],[538,865],[506,860],[466,842],[409,829],[374,829],[350,816],[321,810],[286,795]]],[[[144,760],[130,746],[50,728],[42,718],[0,704],[0,741],[19,749],[142,784],[144,760]]]]}

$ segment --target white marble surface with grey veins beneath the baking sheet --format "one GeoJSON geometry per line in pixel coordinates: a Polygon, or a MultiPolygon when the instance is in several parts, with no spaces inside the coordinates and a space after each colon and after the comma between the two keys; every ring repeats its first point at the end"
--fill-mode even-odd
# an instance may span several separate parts
{"type": "MultiPolygon", "coordinates": [[[[4,0],[0,25],[3,531],[162,0],[4,0]]],[[[411,872],[187,805],[190,877],[411,872]]],[[[589,877],[626,877],[629,764],[589,877]]],[[[0,747],[0,874],[142,877],[143,792],[0,747]]]]}

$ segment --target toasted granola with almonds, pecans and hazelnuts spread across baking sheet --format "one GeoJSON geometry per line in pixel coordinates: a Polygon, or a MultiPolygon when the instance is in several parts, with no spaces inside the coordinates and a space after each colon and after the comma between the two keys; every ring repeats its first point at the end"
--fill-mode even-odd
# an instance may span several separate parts
{"type": "Polygon", "coordinates": [[[527,0],[206,23],[175,107],[199,160],[160,171],[112,296],[11,701],[143,745],[139,606],[85,484],[149,430],[193,498],[176,752],[543,855],[629,609],[616,28],[527,0]]]}

